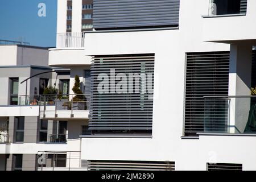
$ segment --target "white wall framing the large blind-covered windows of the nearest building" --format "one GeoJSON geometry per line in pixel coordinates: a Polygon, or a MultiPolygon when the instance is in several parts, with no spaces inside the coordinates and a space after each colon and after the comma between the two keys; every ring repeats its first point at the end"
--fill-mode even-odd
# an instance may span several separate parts
{"type": "Polygon", "coordinates": [[[185,53],[229,51],[228,44],[204,42],[201,15],[205,14],[208,1],[181,0],[179,30],[86,34],[86,55],[155,53],[155,80],[152,139],[83,138],[82,159],[169,160],[177,170],[206,170],[206,163],[216,158],[215,162],[256,169],[251,163],[255,160],[254,137],[181,139],[185,53]]]}

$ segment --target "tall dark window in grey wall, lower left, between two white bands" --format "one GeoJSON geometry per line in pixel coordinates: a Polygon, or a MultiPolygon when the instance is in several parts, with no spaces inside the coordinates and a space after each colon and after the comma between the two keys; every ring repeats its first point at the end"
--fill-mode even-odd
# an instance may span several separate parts
{"type": "Polygon", "coordinates": [[[15,142],[24,142],[24,120],[25,117],[14,118],[15,142]]]}

